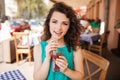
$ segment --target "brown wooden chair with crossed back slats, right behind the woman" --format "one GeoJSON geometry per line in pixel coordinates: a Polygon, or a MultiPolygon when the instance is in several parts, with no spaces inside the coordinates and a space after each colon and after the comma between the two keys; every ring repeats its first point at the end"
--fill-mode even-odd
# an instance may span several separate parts
{"type": "Polygon", "coordinates": [[[105,80],[109,61],[88,50],[83,50],[85,77],[84,80],[105,80]]]}

